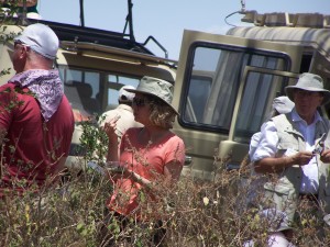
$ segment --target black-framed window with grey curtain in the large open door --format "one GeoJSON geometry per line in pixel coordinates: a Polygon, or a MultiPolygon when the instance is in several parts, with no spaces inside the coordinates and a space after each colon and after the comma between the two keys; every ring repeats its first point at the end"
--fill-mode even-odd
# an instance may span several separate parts
{"type": "MultiPolygon", "coordinates": [[[[230,128],[244,67],[288,70],[290,66],[289,57],[282,53],[228,45],[206,47],[197,43],[189,56],[183,96],[187,100],[183,101],[179,122],[186,127],[224,133],[230,128]]],[[[258,83],[249,85],[244,97],[266,98],[272,80],[251,77],[254,79],[258,83]]]]}

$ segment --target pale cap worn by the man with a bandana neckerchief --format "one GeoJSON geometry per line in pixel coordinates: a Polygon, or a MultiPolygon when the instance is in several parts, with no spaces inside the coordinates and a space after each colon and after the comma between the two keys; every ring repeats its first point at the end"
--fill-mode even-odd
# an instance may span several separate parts
{"type": "Polygon", "coordinates": [[[42,23],[29,25],[14,41],[22,42],[44,57],[56,58],[59,41],[54,31],[47,25],[42,23]]]}

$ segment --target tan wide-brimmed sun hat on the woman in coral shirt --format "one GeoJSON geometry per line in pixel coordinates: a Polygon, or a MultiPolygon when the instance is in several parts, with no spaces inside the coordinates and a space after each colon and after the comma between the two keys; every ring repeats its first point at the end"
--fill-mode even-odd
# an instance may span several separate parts
{"type": "Polygon", "coordinates": [[[173,109],[173,111],[178,114],[178,112],[172,105],[173,100],[173,85],[166,80],[162,80],[154,77],[143,77],[140,80],[140,83],[136,89],[125,89],[129,92],[139,92],[139,93],[146,93],[150,96],[154,96],[157,99],[165,102],[168,106],[173,109]]]}

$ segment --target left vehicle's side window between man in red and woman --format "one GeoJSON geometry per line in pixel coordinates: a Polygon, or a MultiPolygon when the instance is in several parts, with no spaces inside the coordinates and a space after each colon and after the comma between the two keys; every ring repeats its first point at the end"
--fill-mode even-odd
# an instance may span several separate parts
{"type": "MultiPolygon", "coordinates": [[[[107,71],[58,66],[64,92],[77,115],[101,114],[118,105],[119,89],[124,85],[138,87],[140,78],[107,71]]],[[[79,120],[77,120],[79,122],[79,120]]]]}

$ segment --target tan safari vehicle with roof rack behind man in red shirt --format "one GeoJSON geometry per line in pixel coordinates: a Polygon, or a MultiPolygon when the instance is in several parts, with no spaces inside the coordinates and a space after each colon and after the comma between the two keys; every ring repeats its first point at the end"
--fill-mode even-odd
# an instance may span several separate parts
{"type": "MultiPolygon", "coordinates": [[[[30,23],[35,21],[29,20],[30,23]]],[[[103,30],[38,21],[51,26],[61,41],[56,67],[59,69],[76,120],[70,156],[67,166],[79,165],[77,157],[84,154],[79,148],[81,122],[94,114],[101,114],[118,105],[118,91],[123,85],[138,86],[143,76],[152,76],[175,81],[177,61],[156,57],[144,44],[130,35],[103,30]]],[[[13,37],[24,26],[2,24],[1,37],[13,37]]],[[[155,41],[153,37],[148,41],[155,41]]],[[[163,46],[161,46],[164,49],[163,46]]],[[[7,83],[14,75],[11,55],[12,40],[0,42],[0,71],[9,74],[0,77],[0,85],[7,83]]],[[[167,54],[164,49],[165,56],[167,54]]]]}

